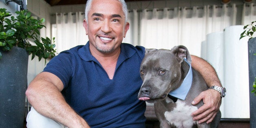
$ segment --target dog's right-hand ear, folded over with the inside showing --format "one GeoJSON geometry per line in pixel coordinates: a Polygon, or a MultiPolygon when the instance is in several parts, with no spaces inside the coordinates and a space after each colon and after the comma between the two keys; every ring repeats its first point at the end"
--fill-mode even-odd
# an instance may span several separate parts
{"type": "Polygon", "coordinates": [[[179,45],[179,46],[174,46],[171,49],[172,53],[174,53],[177,57],[177,60],[179,63],[183,62],[183,59],[186,57],[186,60],[191,64],[191,56],[190,53],[188,52],[188,49],[183,46],[183,45],[179,45]]]}

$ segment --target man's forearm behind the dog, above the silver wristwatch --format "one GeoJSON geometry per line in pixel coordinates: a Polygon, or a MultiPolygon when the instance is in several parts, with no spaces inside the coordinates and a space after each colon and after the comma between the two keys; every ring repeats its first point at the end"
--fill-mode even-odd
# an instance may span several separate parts
{"type": "Polygon", "coordinates": [[[221,86],[221,82],[218,79],[218,75],[211,64],[209,64],[208,62],[206,62],[200,57],[197,57],[194,55],[191,55],[191,57],[192,57],[192,63],[191,63],[192,67],[203,76],[208,87],[213,85],[221,86]]]}

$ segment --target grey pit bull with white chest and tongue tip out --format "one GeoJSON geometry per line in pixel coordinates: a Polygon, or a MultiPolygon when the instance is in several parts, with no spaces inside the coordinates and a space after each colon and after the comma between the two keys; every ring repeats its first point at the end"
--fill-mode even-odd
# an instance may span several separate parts
{"type": "Polygon", "coordinates": [[[146,50],[140,67],[143,84],[138,99],[154,103],[155,114],[161,128],[218,127],[220,112],[210,124],[199,124],[192,119],[191,113],[202,106],[203,102],[195,106],[191,102],[208,87],[203,77],[190,66],[190,63],[190,53],[185,46],[175,46],[171,50],[146,50]],[[187,77],[187,74],[190,76],[187,77]],[[175,96],[185,93],[181,95],[184,100],[172,97],[170,95],[172,93],[175,96]]]}

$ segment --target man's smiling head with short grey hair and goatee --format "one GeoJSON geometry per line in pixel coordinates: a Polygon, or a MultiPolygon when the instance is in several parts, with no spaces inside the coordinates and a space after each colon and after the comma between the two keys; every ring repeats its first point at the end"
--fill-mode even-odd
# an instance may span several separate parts
{"type": "Polygon", "coordinates": [[[113,53],[129,29],[125,15],[118,0],[93,0],[88,21],[84,28],[90,41],[90,48],[101,53],[113,53]]]}

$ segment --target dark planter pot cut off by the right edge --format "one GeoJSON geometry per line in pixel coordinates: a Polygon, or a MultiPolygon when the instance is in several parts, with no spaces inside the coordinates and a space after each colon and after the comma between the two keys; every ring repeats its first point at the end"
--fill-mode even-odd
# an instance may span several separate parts
{"type": "Polygon", "coordinates": [[[250,127],[256,127],[256,96],[251,93],[253,82],[256,77],[256,38],[248,41],[248,62],[249,62],[249,97],[250,97],[250,127]]]}

